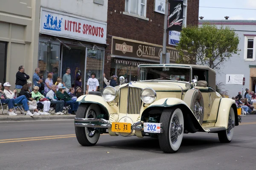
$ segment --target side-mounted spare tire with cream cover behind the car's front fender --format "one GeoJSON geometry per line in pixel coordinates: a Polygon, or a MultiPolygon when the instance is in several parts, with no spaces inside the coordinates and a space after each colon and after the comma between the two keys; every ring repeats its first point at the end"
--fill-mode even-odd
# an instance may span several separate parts
{"type": "Polygon", "coordinates": [[[198,122],[202,125],[204,120],[204,99],[201,91],[198,89],[188,90],[183,101],[189,106],[198,122]]]}

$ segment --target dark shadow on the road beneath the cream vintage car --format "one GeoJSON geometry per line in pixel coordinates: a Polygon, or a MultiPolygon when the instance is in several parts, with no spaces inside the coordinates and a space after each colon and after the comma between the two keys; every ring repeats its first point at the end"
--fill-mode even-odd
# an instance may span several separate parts
{"type": "MultiPolygon", "coordinates": [[[[233,140],[230,144],[239,144],[242,141],[233,140]]],[[[218,135],[216,137],[212,136],[183,136],[181,146],[178,150],[178,153],[192,153],[199,150],[204,150],[212,147],[220,147],[222,145],[227,145],[220,143],[218,140],[218,135]]],[[[144,138],[133,138],[133,139],[124,139],[124,140],[115,140],[112,142],[102,142],[96,144],[95,147],[108,147],[108,148],[117,148],[124,150],[141,150],[148,151],[152,153],[163,153],[160,149],[160,145],[157,138],[144,137],[144,138]]]]}

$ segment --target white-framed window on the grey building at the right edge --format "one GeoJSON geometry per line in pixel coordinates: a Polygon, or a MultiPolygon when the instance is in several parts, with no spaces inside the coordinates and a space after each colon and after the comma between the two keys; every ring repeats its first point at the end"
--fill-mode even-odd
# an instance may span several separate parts
{"type": "Polygon", "coordinates": [[[244,60],[254,61],[256,52],[256,37],[244,37],[244,60]]]}

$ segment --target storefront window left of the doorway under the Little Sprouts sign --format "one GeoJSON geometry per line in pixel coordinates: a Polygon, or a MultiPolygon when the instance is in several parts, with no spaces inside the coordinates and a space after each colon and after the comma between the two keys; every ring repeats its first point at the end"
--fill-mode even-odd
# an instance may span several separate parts
{"type": "Polygon", "coordinates": [[[51,41],[39,41],[38,68],[40,73],[47,78],[49,73],[53,74],[52,81],[55,83],[59,76],[60,43],[51,41]]]}

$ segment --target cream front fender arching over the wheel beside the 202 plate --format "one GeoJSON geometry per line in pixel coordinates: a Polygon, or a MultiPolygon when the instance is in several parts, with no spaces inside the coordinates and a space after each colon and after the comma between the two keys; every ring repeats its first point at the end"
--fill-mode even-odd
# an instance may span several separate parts
{"type": "Polygon", "coordinates": [[[178,98],[163,98],[155,101],[143,111],[141,117],[143,118],[144,113],[148,113],[150,110],[153,110],[154,108],[170,108],[175,106],[179,106],[180,109],[182,110],[184,119],[186,119],[185,124],[189,127],[189,132],[194,133],[198,130],[204,130],[204,128],[200,125],[200,123],[196,119],[194,113],[191,111],[189,106],[183,100],[178,98]]]}

